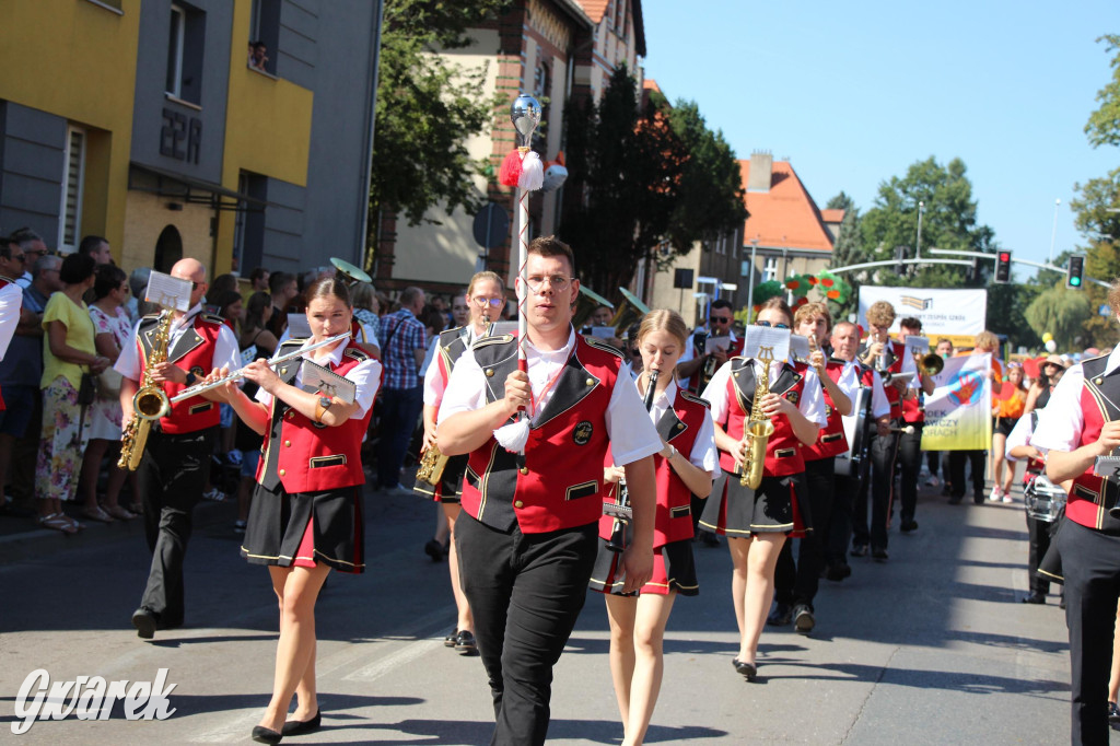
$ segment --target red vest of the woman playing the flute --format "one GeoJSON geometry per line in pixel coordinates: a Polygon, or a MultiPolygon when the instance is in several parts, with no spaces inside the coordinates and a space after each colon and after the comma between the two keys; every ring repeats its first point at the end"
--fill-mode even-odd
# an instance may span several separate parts
{"type": "MultiPolygon", "coordinates": [[[[299,349],[306,339],[286,342],[281,354],[299,349]]],[[[278,351],[280,352],[280,351],[278,351]]],[[[346,342],[342,362],[328,367],[346,375],[370,356],[353,339],[346,342]]],[[[296,380],[301,360],[282,363],[277,374],[286,383],[296,380]]],[[[362,436],[370,425],[373,408],[365,417],[352,417],[337,427],[319,425],[279,399],[272,399],[269,431],[264,433],[262,458],[256,464],[256,481],[269,486],[279,477],[288,494],[323,492],[365,484],[362,470],[362,436]],[[270,472],[274,469],[274,476],[270,472]]]]}

